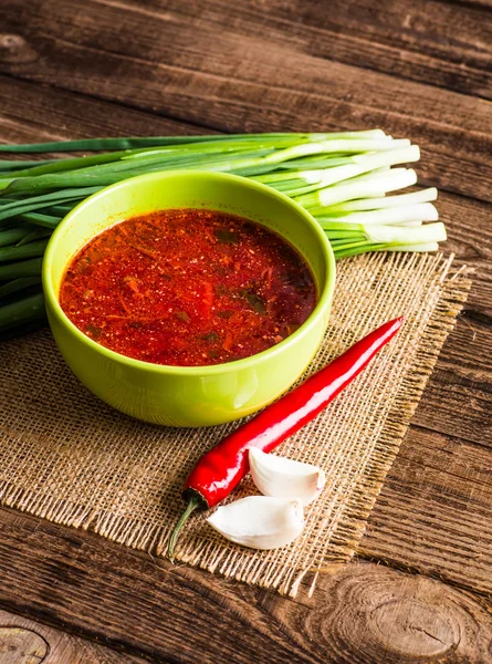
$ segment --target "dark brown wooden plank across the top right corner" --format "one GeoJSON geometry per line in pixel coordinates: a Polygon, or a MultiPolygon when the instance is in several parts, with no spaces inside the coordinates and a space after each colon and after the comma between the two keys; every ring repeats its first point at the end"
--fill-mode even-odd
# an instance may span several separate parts
{"type": "MultiPolygon", "coordinates": [[[[163,3],[98,0],[163,21],[163,3]]],[[[297,53],[336,60],[400,79],[438,85],[474,96],[492,97],[491,6],[462,7],[412,0],[356,0],[347,4],[249,0],[231,6],[224,0],[166,2],[166,14],[181,14],[201,23],[229,17],[242,39],[257,37],[290,46],[297,53]]]]}

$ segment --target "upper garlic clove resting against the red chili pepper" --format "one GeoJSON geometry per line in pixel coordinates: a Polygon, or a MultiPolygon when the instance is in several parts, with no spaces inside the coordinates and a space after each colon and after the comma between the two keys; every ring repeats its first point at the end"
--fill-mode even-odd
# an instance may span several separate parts
{"type": "Polygon", "coordinates": [[[299,498],[305,507],[326,484],[324,471],[311,464],[265,454],[255,447],[250,448],[249,459],[251,477],[264,496],[299,498]]]}

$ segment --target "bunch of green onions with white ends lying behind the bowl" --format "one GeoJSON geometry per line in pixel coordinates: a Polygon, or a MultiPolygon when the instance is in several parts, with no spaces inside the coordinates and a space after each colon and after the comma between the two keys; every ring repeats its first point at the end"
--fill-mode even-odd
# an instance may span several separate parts
{"type": "Polygon", "coordinates": [[[381,129],[95,138],[0,145],[3,153],[101,153],[44,160],[0,159],[0,335],[44,323],[41,262],[49,236],[81,200],[122,179],[171,169],[233,173],[286,194],[328,237],[336,259],[367,251],[435,251],[444,226],[437,189],[415,185],[408,139],[381,129]],[[430,221],[431,224],[423,224],[430,221]]]}

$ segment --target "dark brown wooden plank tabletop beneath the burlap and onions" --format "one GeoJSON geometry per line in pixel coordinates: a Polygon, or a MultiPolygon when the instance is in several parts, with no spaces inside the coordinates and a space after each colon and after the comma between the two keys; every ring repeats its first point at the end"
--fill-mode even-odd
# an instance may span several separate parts
{"type": "Polygon", "coordinates": [[[312,599],[0,509],[0,664],[492,662],[490,0],[2,0],[0,141],[380,126],[475,268],[357,557],[312,599]]]}

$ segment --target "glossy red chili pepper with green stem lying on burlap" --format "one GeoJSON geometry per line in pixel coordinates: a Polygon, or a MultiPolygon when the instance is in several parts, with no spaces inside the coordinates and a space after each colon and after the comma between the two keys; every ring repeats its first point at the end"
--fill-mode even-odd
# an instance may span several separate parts
{"type": "Polygon", "coordinates": [[[404,319],[398,318],[370,332],[200,458],[185,484],[184,498],[188,500],[188,507],[169,540],[171,560],[178,533],[190,513],[197,508],[209,509],[223,500],[249,473],[250,447],[271,452],[313,419],[363,371],[398,332],[402,322],[404,319]]]}

